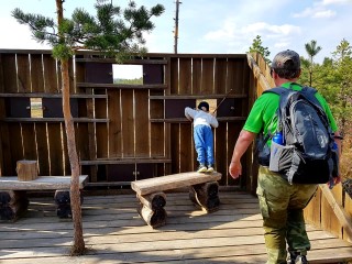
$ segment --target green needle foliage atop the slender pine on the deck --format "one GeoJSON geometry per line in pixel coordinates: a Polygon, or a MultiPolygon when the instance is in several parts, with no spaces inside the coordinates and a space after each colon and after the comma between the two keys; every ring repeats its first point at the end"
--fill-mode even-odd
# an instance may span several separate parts
{"type": "Polygon", "coordinates": [[[154,29],[151,18],[165,10],[162,4],[151,10],[144,6],[138,8],[134,1],[122,10],[108,0],[97,0],[95,9],[97,13],[92,16],[85,9],[76,8],[72,19],[64,18],[59,25],[51,18],[24,13],[20,9],[14,9],[12,16],[28,24],[36,41],[52,45],[56,58],[67,58],[76,50],[94,50],[121,62],[131,54],[146,52],[143,33],[154,29]]]}

